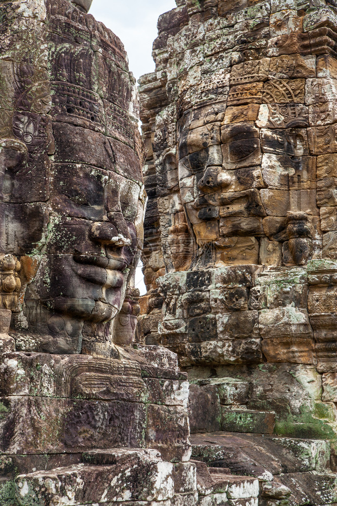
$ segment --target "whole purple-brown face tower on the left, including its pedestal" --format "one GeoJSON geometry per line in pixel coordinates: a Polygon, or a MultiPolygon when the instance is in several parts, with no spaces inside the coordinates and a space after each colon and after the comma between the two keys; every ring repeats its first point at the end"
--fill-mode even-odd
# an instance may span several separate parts
{"type": "Polygon", "coordinates": [[[90,4],[0,3],[0,504],[194,503],[186,374],[133,343],[135,80],[90,4]]]}

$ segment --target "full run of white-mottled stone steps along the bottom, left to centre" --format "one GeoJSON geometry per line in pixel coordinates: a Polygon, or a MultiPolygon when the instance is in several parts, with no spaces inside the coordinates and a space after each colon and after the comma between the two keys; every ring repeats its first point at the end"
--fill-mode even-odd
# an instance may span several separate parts
{"type": "MultiPolygon", "coordinates": [[[[7,484],[8,484],[7,480],[7,484]]],[[[0,483],[1,488],[1,483],[0,483]]],[[[5,491],[3,491],[5,492],[5,491]]],[[[1,506],[257,506],[259,480],[205,462],[165,462],[156,450],[82,454],[82,462],[17,476],[1,506]]]]}

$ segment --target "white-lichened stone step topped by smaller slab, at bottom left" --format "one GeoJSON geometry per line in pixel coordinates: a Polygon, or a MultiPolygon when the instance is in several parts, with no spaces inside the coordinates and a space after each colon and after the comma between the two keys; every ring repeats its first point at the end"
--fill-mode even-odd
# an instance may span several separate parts
{"type": "Polygon", "coordinates": [[[15,480],[17,503],[77,506],[109,501],[163,501],[174,495],[173,464],[163,461],[156,450],[88,452],[85,460],[105,465],[81,463],[19,475],[15,480]]]}

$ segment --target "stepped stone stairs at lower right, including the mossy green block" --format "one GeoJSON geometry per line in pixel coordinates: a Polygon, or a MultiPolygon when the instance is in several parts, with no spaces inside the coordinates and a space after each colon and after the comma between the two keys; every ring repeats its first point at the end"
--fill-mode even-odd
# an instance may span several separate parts
{"type": "MultiPolygon", "coordinates": [[[[192,382],[191,458],[203,462],[219,483],[223,472],[258,480],[255,500],[261,506],[337,503],[333,441],[274,435],[275,412],[248,409],[248,400],[249,382],[242,379],[192,382]]],[[[247,498],[237,499],[243,504],[247,498]]]]}

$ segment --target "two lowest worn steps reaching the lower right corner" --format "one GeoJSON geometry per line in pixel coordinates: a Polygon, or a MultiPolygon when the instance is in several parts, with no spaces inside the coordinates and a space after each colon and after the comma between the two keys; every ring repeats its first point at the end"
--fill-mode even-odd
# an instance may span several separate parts
{"type": "Polygon", "coordinates": [[[226,473],[257,479],[261,505],[337,502],[328,441],[215,432],[192,434],[191,444],[192,458],[209,466],[214,476],[224,468],[226,473]]]}

